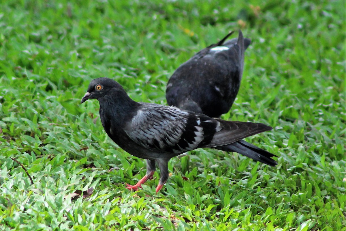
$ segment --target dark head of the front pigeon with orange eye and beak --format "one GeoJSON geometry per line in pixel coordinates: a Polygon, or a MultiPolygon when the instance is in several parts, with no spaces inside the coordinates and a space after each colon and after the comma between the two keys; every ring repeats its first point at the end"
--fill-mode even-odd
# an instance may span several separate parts
{"type": "Polygon", "coordinates": [[[81,100],[81,104],[88,99],[97,99],[100,101],[101,98],[114,94],[114,89],[119,89],[120,91],[125,92],[121,85],[112,79],[93,79],[89,84],[88,91],[81,100]]]}

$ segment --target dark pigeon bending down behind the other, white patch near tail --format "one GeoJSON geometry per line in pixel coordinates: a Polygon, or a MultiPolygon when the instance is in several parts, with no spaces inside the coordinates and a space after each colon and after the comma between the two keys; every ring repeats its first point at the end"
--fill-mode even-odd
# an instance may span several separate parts
{"type": "Polygon", "coordinates": [[[242,80],[244,52],[251,40],[225,40],[204,48],[179,66],[167,83],[166,99],[173,105],[210,117],[220,117],[231,108],[242,80]]]}

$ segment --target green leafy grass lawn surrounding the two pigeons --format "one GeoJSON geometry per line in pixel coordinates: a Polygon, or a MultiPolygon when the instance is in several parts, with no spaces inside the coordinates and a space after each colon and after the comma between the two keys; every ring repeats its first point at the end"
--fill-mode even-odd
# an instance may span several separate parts
{"type": "Polygon", "coordinates": [[[1,1],[0,230],[346,230],[345,2],[126,2],[1,1]],[[90,80],[166,104],[173,71],[240,26],[252,45],[223,118],[273,126],[247,140],[279,164],[200,149],[157,195],[159,172],[125,189],[145,161],[80,105],[90,80]]]}

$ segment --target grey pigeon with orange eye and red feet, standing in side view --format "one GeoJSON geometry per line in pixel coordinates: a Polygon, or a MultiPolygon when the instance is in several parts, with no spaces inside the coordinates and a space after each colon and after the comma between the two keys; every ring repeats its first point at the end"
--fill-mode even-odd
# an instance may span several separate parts
{"type": "MultiPolygon", "coordinates": [[[[262,123],[224,121],[177,107],[138,103],[109,78],[92,80],[81,104],[88,99],[99,101],[101,123],[108,136],[126,152],[147,160],[146,175],[136,185],[127,184],[126,188],[134,190],[153,177],[156,164],[160,169],[157,193],[169,177],[172,157],[197,148],[229,151],[230,144],[272,129],[262,123]]],[[[271,157],[251,158],[276,165],[271,157]]]]}

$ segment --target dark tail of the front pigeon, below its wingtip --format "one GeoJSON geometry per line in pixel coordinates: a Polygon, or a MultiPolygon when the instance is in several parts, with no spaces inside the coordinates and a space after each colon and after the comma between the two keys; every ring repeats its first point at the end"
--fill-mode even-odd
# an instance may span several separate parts
{"type": "Polygon", "coordinates": [[[256,161],[260,161],[270,166],[277,165],[277,162],[272,159],[272,157],[277,156],[244,140],[238,140],[237,142],[215,148],[222,151],[237,152],[239,154],[242,154],[243,156],[249,157],[256,161]]]}

